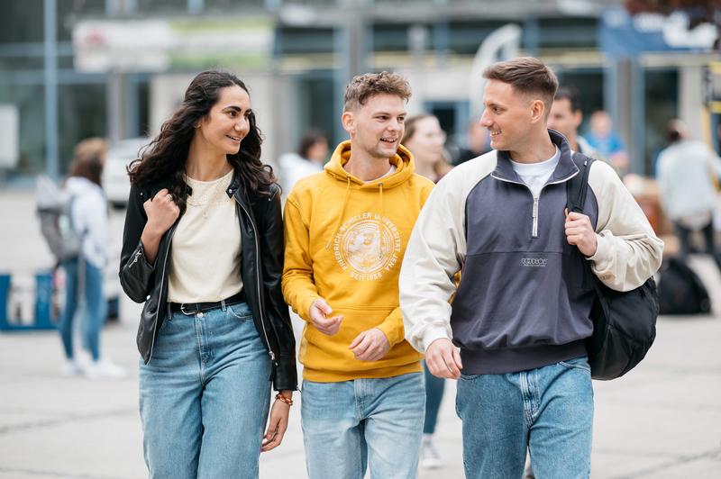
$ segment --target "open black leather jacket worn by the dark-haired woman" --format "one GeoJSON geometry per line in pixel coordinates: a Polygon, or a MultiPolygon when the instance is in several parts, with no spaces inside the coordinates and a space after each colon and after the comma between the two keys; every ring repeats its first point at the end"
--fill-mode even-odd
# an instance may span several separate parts
{"type": "MultiPolygon", "coordinates": [[[[142,203],[163,187],[168,185],[132,185],[120,256],[123,290],[132,301],[145,302],[136,339],[145,364],[151,361],[155,333],[160,330],[168,312],[169,251],[178,221],[160,239],[155,265],[151,265],[141,243],[141,233],[148,221],[142,203]]],[[[237,171],[226,190],[237,203],[242,237],[242,283],[255,327],[273,361],[273,387],[277,391],[296,390],[296,340],[287,304],[280,292],[284,247],[277,185],[273,186],[273,192],[272,198],[249,196],[237,171]]]]}

